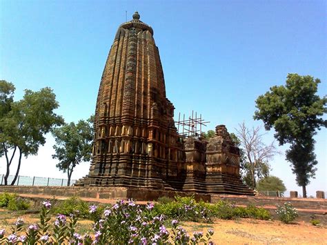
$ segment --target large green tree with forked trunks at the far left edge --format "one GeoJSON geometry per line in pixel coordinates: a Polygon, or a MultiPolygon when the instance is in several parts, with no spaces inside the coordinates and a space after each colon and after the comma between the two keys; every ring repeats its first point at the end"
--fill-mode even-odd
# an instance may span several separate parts
{"type": "Polygon", "coordinates": [[[50,88],[42,88],[37,92],[25,90],[23,99],[13,101],[14,86],[6,81],[1,81],[1,84],[1,113],[5,113],[0,118],[0,144],[1,151],[6,155],[6,185],[12,159],[17,150],[19,153],[17,170],[11,183],[13,185],[19,175],[22,156],[37,155],[39,146],[46,143],[44,135],[63,120],[53,112],[59,104],[50,88]],[[4,103],[6,106],[3,106],[3,101],[8,101],[4,103]]]}

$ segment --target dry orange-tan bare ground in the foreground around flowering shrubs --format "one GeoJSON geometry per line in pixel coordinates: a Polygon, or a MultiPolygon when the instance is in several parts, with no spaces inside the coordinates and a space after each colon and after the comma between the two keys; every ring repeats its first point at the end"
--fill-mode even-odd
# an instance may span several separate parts
{"type": "MultiPolygon", "coordinates": [[[[39,215],[11,213],[0,209],[0,228],[9,229],[17,219],[23,217],[28,224],[39,221],[39,215]]],[[[92,222],[79,222],[79,233],[90,231],[92,222]]],[[[181,226],[189,233],[212,228],[215,234],[212,240],[215,244],[326,244],[327,228],[313,226],[306,222],[283,224],[279,221],[263,221],[257,219],[216,219],[213,224],[182,222],[181,226]]],[[[191,235],[191,234],[190,234],[191,235]]]]}

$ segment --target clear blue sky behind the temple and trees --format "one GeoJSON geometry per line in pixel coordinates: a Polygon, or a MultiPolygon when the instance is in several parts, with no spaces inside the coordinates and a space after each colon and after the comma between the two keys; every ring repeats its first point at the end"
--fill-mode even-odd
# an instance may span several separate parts
{"type": "MultiPolygon", "coordinates": [[[[289,72],[321,79],[319,95],[327,94],[326,1],[1,0],[0,79],[14,83],[16,99],[25,88],[50,86],[66,121],[88,118],[117,28],[135,10],[154,30],[175,115],[195,110],[211,121],[208,129],[226,124],[230,132],[242,121],[259,126],[255,99],[284,84],[289,72]]],[[[55,168],[47,138],[38,156],[23,160],[21,175],[66,176],[55,168]]],[[[327,189],[326,129],[315,139],[319,165],[309,195],[327,189]]],[[[286,149],[271,161],[272,174],[301,193],[286,149]]],[[[87,173],[84,164],[73,178],[87,173]]]]}

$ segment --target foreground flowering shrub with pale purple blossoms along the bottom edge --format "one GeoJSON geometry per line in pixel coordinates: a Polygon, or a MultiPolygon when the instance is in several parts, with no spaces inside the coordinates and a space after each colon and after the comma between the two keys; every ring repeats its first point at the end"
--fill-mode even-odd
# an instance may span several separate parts
{"type": "MultiPolygon", "coordinates": [[[[11,235],[5,237],[6,231],[0,229],[1,244],[208,244],[213,231],[193,233],[190,237],[177,220],[172,221],[171,233],[164,226],[164,216],[154,216],[153,204],[141,208],[132,200],[117,201],[106,208],[95,222],[93,235],[81,235],[75,232],[79,212],[57,215],[54,224],[50,224],[50,202],[43,202],[40,213],[40,224],[24,227],[19,218],[12,226],[11,235]],[[17,236],[25,228],[25,234],[17,236]],[[94,237],[94,238],[93,238],[94,237]]],[[[97,206],[90,206],[90,214],[98,210],[97,206]]],[[[9,233],[10,234],[10,233],[9,233]]]]}

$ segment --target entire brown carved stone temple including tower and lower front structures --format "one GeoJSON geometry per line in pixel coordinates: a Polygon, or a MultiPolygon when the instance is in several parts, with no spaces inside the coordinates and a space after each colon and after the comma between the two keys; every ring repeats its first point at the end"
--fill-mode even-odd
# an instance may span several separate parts
{"type": "Polygon", "coordinates": [[[225,126],[205,140],[183,137],[166,97],[153,30],[121,24],[101,77],[90,173],[77,186],[132,186],[252,195],[239,175],[239,149],[225,126]]]}

